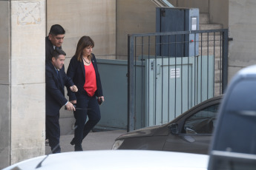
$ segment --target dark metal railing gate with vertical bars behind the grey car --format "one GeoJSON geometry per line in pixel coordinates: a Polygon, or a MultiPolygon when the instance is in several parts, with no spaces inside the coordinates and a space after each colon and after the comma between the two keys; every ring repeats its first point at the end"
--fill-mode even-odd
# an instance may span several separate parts
{"type": "Polygon", "coordinates": [[[128,35],[128,132],[223,94],[228,30],[128,35]]]}

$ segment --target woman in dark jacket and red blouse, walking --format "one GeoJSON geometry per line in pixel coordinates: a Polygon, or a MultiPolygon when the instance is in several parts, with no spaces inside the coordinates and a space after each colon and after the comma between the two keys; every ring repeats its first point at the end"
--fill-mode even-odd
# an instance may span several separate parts
{"type": "Polygon", "coordinates": [[[76,103],[77,108],[81,108],[73,112],[76,129],[70,144],[75,145],[75,151],[82,151],[82,140],[99,122],[98,102],[104,101],[96,58],[91,53],[93,47],[93,40],[89,36],[82,36],[78,41],[76,54],[68,66],[67,75],[78,88],[76,93],[68,91],[69,100],[76,103]],[[87,116],[89,120],[85,123],[87,116]]]}

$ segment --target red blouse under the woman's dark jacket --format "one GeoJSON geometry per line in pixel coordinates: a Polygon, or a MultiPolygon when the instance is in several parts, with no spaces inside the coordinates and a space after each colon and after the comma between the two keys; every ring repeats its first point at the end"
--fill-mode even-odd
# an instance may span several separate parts
{"type": "Polygon", "coordinates": [[[96,74],[93,64],[85,66],[85,84],[84,89],[90,97],[94,95],[97,89],[96,85],[96,74]]]}

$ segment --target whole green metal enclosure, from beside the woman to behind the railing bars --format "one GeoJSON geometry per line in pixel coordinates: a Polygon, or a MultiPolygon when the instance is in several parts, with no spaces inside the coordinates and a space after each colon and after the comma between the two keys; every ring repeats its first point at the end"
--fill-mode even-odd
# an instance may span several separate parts
{"type": "MultiPolygon", "coordinates": [[[[97,63],[105,102],[100,106],[102,118],[96,128],[127,129],[128,61],[97,59],[97,63]]],[[[167,123],[213,97],[213,56],[157,59],[151,56],[134,62],[134,69],[136,129],[167,123]]]]}

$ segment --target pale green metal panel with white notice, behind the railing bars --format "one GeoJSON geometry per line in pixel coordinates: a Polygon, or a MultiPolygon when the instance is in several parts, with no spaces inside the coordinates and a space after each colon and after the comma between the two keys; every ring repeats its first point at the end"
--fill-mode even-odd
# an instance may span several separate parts
{"type": "Polygon", "coordinates": [[[145,126],[168,123],[213,97],[213,64],[213,56],[145,59],[145,126]]]}

